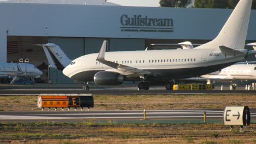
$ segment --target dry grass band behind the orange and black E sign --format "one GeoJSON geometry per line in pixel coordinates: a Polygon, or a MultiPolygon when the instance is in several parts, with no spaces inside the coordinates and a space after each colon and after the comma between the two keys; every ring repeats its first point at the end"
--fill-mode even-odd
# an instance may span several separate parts
{"type": "MultiPolygon", "coordinates": [[[[94,110],[223,109],[225,106],[256,107],[256,94],[223,95],[95,95],[94,110]]],[[[2,96],[0,110],[40,110],[37,96],[2,96]]]]}

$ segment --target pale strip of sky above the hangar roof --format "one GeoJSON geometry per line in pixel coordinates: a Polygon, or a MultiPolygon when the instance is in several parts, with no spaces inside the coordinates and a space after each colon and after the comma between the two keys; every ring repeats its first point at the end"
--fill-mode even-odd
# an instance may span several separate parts
{"type": "Polygon", "coordinates": [[[159,1],[160,0],[108,0],[107,2],[112,2],[123,6],[160,7],[159,1]]]}

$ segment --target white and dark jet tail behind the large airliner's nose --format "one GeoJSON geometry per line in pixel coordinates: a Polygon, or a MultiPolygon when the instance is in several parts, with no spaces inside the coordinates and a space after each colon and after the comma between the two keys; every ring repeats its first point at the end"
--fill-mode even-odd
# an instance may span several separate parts
{"type": "Polygon", "coordinates": [[[65,52],[63,52],[58,45],[48,43],[48,44],[37,45],[37,46],[43,47],[46,58],[48,59],[48,62],[50,64],[49,65],[50,68],[63,70],[72,61],[67,57],[65,52]]]}

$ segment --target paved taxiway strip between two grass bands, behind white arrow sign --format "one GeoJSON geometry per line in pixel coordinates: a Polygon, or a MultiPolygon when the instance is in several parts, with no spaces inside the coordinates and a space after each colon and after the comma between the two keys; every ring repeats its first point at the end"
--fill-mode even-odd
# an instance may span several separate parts
{"type": "MultiPolygon", "coordinates": [[[[59,109],[61,110],[61,109],[59,109]]],[[[222,122],[223,110],[149,110],[144,122],[200,123],[206,112],[207,122],[222,122]]],[[[256,109],[251,109],[252,122],[256,109]]],[[[0,111],[0,122],[142,122],[141,111],[0,111]]]]}

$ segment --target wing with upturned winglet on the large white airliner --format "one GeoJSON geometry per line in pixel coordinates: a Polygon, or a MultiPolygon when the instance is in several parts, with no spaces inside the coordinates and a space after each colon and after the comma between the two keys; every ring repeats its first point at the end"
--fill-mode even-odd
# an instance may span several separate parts
{"type": "Polygon", "coordinates": [[[149,71],[144,71],[144,70],[141,70],[141,69],[130,67],[128,65],[107,61],[105,59],[106,44],[107,44],[107,41],[104,40],[103,43],[102,43],[102,46],[101,46],[101,50],[98,53],[98,57],[96,59],[98,62],[101,62],[103,64],[108,65],[111,68],[114,68],[114,69],[109,69],[109,70],[106,70],[106,71],[113,71],[113,72],[117,72],[117,73],[120,73],[120,74],[123,74],[123,75],[150,74],[149,71]]]}

